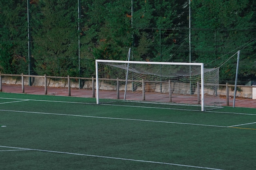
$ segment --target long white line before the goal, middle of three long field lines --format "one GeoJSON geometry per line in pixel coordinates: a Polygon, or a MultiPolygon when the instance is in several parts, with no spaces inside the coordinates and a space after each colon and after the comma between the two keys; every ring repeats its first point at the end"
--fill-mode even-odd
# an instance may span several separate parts
{"type": "Polygon", "coordinates": [[[216,126],[216,125],[205,125],[205,124],[190,124],[190,123],[182,123],[182,122],[156,121],[156,120],[145,120],[145,119],[127,119],[127,118],[116,118],[116,117],[98,117],[98,116],[70,115],[70,114],[60,114],[60,113],[28,112],[28,111],[18,111],[18,110],[0,110],[0,111],[18,112],[18,113],[34,113],[34,114],[45,114],[45,115],[61,115],[61,116],[90,117],[90,118],[99,118],[99,119],[117,119],[117,120],[130,120],[130,121],[147,121],[147,122],[168,123],[168,124],[184,124],[184,125],[211,126],[211,127],[227,128],[227,126],[216,126]]]}

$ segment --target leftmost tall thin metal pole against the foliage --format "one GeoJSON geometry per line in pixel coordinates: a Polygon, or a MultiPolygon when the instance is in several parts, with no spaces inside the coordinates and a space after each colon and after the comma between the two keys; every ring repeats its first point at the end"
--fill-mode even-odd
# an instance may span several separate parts
{"type": "MultiPolygon", "coordinates": [[[[27,47],[28,47],[28,61],[29,61],[29,75],[31,75],[31,33],[30,33],[30,26],[29,26],[29,21],[30,20],[30,3],[29,0],[27,0],[27,37],[28,37],[28,42],[27,42],[27,47]]],[[[31,77],[29,76],[29,86],[31,86],[31,77]]]]}

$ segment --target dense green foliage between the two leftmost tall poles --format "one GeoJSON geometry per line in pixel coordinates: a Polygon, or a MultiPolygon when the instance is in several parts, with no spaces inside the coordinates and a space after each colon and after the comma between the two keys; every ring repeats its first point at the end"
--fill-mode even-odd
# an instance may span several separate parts
{"type": "Polygon", "coordinates": [[[77,4],[69,0],[39,3],[41,12],[34,11],[31,17],[35,23],[32,31],[34,70],[39,75],[79,75],[77,4]]]}

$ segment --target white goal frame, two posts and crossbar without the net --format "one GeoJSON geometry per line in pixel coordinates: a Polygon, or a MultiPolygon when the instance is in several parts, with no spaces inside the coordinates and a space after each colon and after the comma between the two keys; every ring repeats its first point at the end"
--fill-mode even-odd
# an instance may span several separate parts
{"type": "Polygon", "coordinates": [[[204,111],[204,64],[203,63],[182,63],[182,62],[139,62],[139,61],[121,61],[121,60],[95,60],[96,67],[96,99],[99,104],[99,73],[98,63],[124,63],[124,64],[159,64],[159,65],[183,65],[183,66],[200,66],[201,67],[201,110],[204,111]]]}

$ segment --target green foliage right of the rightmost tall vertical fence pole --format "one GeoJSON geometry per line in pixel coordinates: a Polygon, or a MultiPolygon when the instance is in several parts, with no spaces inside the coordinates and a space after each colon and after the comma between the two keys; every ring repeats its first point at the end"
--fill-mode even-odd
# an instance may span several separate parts
{"type": "MultiPolygon", "coordinates": [[[[192,32],[193,60],[207,67],[223,64],[238,50],[240,63],[252,67],[255,52],[254,0],[193,0],[192,32]]],[[[251,74],[248,68],[240,74],[251,74]]],[[[236,57],[220,67],[220,79],[233,79],[236,74],[236,57]]]]}

